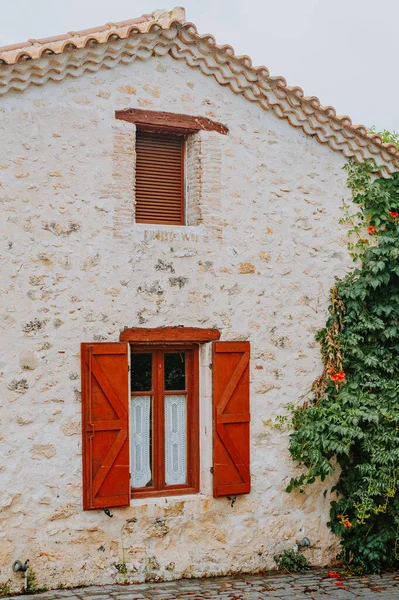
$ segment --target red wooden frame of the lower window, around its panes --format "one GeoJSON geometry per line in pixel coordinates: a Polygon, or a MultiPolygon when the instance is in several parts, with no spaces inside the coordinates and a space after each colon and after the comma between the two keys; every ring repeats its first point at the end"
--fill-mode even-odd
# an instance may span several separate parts
{"type": "MultiPolygon", "coordinates": [[[[194,343],[157,343],[137,344],[130,342],[130,355],[151,353],[153,365],[157,364],[157,373],[153,369],[153,444],[152,468],[153,486],[130,489],[131,498],[159,498],[182,494],[197,494],[200,487],[200,427],[199,427],[199,348],[194,343]],[[186,352],[186,392],[187,401],[187,483],[179,485],[165,484],[165,413],[164,413],[164,369],[159,356],[168,352],[186,352]]],[[[169,393],[172,390],[167,390],[169,393]]],[[[182,390],[177,390],[182,392],[182,390]]],[[[143,392],[130,390],[129,406],[132,395],[143,395],[143,392]]]]}

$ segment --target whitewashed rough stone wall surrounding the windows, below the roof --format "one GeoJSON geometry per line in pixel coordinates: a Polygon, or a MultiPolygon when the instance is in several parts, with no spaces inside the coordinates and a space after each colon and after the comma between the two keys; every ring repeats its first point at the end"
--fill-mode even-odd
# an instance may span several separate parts
{"type": "Polygon", "coordinates": [[[0,584],[256,571],[307,535],[325,564],[328,483],[284,489],[288,434],[268,424],[320,372],[317,329],[348,267],[344,157],[170,57],[0,101],[0,584]],[[134,127],[116,109],[225,123],[191,148],[187,227],[134,224],[134,127]],[[196,200],[197,199],[197,200],[196,200]],[[199,203],[199,205],[198,205],[199,203]],[[201,352],[201,493],[82,511],[79,344],[124,327],[217,327],[250,340],[252,492],[211,494],[210,348],[201,352]]]}

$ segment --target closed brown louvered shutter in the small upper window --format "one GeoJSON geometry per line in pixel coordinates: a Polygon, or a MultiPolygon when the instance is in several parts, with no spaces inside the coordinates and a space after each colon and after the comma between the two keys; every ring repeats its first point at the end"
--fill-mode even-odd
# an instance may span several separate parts
{"type": "Polygon", "coordinates": [[[184,137],[136,133],[136,223],[184,224],[184,137]]]}

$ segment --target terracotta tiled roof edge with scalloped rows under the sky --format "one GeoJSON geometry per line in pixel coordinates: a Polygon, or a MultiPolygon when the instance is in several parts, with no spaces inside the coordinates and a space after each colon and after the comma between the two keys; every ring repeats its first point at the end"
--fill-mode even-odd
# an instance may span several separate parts
{"type": "Polygon", "coordinates": [[[383,176],[399,171],[394,144],[368,134],[364,125],[353,125],[346,115],[337,116],[332,106],[305,96],[302,88],[287,85],[283,77],[272,77],[267,67],[254,67],[249,56],[236,56],[227,44],[218,46],[212,35],[199,35],[195,25],[186,22],[181,7],[0,48],[0,96],[48,80],[96,72],[103,65],[112,67],[164,54],[214,77],[347,158],[373,159],[383,176]]]}

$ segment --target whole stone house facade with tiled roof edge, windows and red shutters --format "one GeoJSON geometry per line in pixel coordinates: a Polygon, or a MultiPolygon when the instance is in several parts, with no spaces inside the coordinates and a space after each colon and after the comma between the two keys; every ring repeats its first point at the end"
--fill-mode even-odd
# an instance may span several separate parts
{"type": "Polygon", "coordinates": [[[342,167],[396,148],[180,8],[0,49],[0,95],[0,583],[254,572],[305,535],[330,561],[330,486],[285,493],[270,424],[350,266],[342,167]],[[177,134],[184,216],[154,223],[138,140],[177,134]]]}

